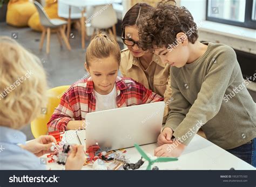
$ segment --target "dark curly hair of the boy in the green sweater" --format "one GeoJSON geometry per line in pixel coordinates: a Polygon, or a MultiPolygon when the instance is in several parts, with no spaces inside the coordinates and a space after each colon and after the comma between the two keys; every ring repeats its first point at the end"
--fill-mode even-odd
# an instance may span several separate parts
{"type": "Polygon", "coordinates": [[[198,39],[197,24],[184,6],[161,1],[156,9],[140,20],[139,38],[143,50],[168,47],[176,41],[176,35],[184,32],[192,44],[198,39]]]}

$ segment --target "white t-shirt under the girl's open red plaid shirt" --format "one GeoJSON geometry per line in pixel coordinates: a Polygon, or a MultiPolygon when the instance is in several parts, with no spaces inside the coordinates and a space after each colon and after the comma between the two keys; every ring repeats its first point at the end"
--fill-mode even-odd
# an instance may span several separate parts
{"type": "Polygon", "coordinates": [[[102,110],[118,108],[117,107],[116,85],[114,85],[112,91],[107,95],[101,95],[96,91],[94,91],[94,94],[95,94],[95,98],[96,98],[96,110],[95,111],[102,111],[102,110]]]}

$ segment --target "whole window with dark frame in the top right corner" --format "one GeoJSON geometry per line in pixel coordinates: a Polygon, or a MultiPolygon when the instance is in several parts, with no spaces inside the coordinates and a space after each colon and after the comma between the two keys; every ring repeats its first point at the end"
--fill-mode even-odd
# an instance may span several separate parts
{"type": "Polygon", "coordinates": [[[207,0],[206,20],[256,29],[256,0],[207,0]]]}

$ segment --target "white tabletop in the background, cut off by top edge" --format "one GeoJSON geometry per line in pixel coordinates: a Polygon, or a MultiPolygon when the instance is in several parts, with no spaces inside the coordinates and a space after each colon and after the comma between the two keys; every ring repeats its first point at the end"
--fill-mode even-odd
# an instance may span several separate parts
{"type": "Polygon", "coordinates": [[[121,3],[122,0],[59,0],[63,4],[77,7],[85,7],[85,6],[96,6],[96,5],[104,5],[104,4],[112,4],[112,3],[121,3]]]}

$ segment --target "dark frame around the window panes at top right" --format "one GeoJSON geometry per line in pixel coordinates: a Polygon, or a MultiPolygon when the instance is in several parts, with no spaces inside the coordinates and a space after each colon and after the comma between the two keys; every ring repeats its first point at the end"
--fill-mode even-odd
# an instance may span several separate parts
{"type": "Polygon", "coordinates": [[[224,24],[228,24],[228,25],[246,27],[246,28],[249,28],[249,29],[256,29],[256,20],[252,19],[253,0],[246,0],[246,3],[245,3],[245,21],[244,22],[237,22],[237,21],[233,21],[233,20],[214,18],[214,17],[208,16],[208,11],[209,11],[208,10],[208,3],[209,3],[208,1],[209,0],[206,0],[206,20],[209,20],[211,22],[224,23],[224,24]]]}

